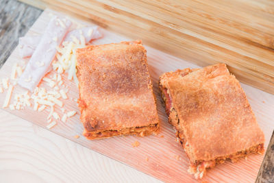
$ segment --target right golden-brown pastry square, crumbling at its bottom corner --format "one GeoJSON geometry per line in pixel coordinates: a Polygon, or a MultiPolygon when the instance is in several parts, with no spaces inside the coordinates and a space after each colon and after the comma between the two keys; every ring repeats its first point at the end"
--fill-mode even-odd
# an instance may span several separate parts
{"type": "Polygon", "coordinates": [[[227,159],[264,151],[264,134],[225,64],[164,73],[159,87],[195,178],[227,159]]]}

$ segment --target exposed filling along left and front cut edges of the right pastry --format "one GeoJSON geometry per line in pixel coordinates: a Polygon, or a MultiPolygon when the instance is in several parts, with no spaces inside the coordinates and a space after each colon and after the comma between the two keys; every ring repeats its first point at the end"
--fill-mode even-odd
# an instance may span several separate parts
{"type": "MultiPolygon", "coordinates": [[[[189,148],[188,142],[184,139],[184,133],[179,128],[179,118],[177,117],[177,111],[173,108],[173,103],[171,95],[167,88],[164,88],[160,84],[160,91],[162,93],[162,99],[164,100],[166,106],[166,114],[169,116],[169,123],[175,127],[177,130],[176,136],[179,138],[180,143],[184,147],[184,150],[187,154],[187,149],[189,148]]],[[[206,173],[206,169],[213,168],[216,164],[224,163],[225,160],[231,160],[236,162],[239,158],[247,157],[249,154],[262,154],[264,152],[264,144],[255,145],[250,147],[247,150],[238,151],[235,154],[230,154],[228,156],[221,156],[214,160],[197,160],[196,162],[190,162],[190,167],[188,173],[194,174],[196,179],[203,178],[203,175],[206,173]]]]}

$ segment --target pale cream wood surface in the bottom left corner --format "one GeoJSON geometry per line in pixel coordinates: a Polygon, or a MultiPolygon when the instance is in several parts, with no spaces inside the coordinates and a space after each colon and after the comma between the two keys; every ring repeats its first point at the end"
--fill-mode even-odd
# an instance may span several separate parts
{"type": "Polygon", "coordinates": [[[3,110],[0,119],[0,182],[160,182],[3,110]]]}

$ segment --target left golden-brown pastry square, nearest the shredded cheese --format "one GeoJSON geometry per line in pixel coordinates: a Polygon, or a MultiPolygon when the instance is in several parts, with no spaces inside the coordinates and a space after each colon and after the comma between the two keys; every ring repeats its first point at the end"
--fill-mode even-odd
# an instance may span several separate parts
{"type": "Polygon", "coordinates": [[[140,40],[77,49],[77,78],[86,138],[158,132],[147,51],[140,40]]]}

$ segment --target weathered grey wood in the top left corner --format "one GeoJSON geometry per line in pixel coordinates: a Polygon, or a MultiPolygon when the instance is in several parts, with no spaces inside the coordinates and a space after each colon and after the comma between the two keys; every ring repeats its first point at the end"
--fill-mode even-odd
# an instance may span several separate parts
{"type": "Polygon", "coordinates": [[[15,0],[0,1],[0,68],[41,12],[15,0]]]}

